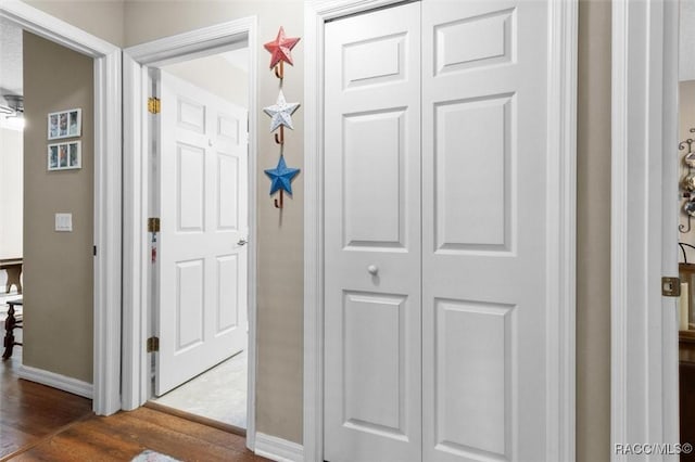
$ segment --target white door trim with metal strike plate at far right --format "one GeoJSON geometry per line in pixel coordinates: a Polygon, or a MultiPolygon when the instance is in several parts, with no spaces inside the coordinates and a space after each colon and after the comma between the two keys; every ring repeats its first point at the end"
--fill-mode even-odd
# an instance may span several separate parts
{"type": "Polygon", "coordinates": [[[679,441],[678,313],[660,288],[678,275],[678,9],[612,3],[614,461],[630,459],[617,444],[679,441]]]}

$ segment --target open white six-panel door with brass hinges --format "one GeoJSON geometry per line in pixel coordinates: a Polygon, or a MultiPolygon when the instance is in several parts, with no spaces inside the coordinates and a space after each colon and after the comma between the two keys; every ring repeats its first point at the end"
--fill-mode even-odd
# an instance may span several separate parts
{"type": "Polygon", "coordinates": [[[161,75],[162,395],[247,346],[247,111],[161,75]]]}

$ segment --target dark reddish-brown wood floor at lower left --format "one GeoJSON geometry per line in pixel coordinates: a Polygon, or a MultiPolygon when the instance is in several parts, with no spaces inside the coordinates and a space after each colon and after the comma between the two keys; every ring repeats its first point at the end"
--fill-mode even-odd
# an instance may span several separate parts
{"type": "Polygon", "coordinates": [[[241,436],[154,409],[97,416],[89,399],[17,378],[21,351],[0,364],[0,461],[130,461],[146,449],[182,461],[267,461],[241,436]]]}

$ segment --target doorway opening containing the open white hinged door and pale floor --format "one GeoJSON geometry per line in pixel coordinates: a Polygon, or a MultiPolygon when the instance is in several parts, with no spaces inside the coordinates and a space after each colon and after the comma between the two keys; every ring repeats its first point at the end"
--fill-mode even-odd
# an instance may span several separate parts
{"type": "Polygon", "coordinates": [[[249,66],[244,40],[149,70],[162,107],[150,216],[166,223],[152,243],[150,402],[237,433],[248,427],[249,66]]]}

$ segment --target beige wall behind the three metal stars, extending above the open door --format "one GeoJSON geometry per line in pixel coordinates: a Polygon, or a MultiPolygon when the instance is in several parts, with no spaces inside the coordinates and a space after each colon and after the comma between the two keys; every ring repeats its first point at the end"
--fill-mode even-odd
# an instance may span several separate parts
{"type": "MultiPolygon", "coordinates": [[[[279,90],[263,43],[274,40],[280,26],[289,37],[302,37],[303,14],[301,0],[128,1],[124,14],[126,46],[250,15],[258,17],[256,428],[296,442],[302,441],[303,413],[304,178],[300,174],[292,183],[294,197],[286,197],[282,211],[273,206],[270,183],[263,170],[277,165],[279,147],[268,130],[270,119],[261,108],[275,104],[279,90]]],[[[292,56],[294,66],[285,67],[282,90],[288,101],[303,102],[302,41],[292,50],[292,56]]],[[[292,117],[294,130],[285,132],[285,157],[291,167],[304,166],[303,117],[300,107],[292,117]]]]}

